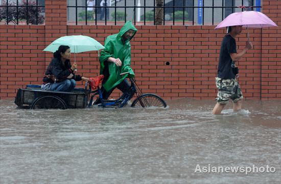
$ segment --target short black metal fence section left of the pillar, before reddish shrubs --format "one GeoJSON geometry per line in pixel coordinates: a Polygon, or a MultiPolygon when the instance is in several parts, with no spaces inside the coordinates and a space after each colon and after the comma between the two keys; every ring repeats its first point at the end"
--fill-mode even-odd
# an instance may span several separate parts
{"type": "Polygon", "coordinates": [[[0,4],[0,21],[6,24],[43,24],[44,0],[5,0],[0,4]]]}

